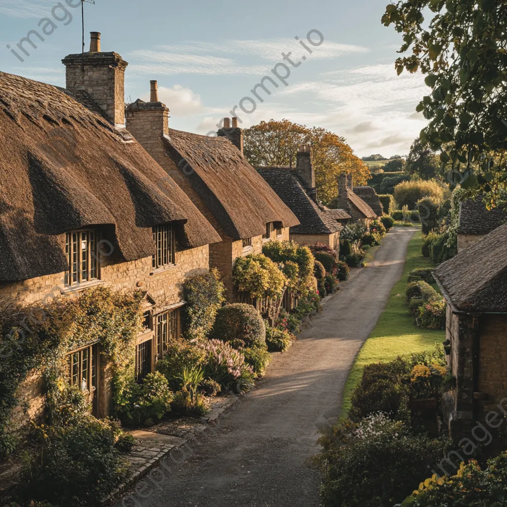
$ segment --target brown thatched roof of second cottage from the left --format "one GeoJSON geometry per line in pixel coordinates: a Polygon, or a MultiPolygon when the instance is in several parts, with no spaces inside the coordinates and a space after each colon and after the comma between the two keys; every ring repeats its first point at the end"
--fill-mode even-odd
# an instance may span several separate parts
{"type": "Polygon", "coordinates": [[[243,154],[226,137],[169,129],[167,151],[194,191],[233,239],[260,236],[268,222],[299,224],[243,154]]]}

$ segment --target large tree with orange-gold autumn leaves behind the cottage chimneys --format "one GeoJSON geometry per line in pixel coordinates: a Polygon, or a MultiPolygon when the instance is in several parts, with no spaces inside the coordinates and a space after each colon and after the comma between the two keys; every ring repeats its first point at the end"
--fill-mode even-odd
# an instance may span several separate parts
{"type": "Polygon", "coordinates": [[[354,155],[343,137],[322,127],[308,128],[288,120],[261,122],[244,131],[244,154],[254,167],[296,166],[300,144],[311,143],[318,198],[328,203],[338,195],[338,175],[350,173],[366,185],[368,166],[354,155]]]}

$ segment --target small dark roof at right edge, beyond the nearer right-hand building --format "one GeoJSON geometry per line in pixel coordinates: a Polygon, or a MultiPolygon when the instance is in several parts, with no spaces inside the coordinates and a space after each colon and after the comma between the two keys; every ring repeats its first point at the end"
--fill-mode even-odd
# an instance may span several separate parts
{"type": "Polygon", "coordinates": [[[507,210],[486,209],[481,196],[460,203],[458,234],[489,234],[507,222],[507,210]]]}

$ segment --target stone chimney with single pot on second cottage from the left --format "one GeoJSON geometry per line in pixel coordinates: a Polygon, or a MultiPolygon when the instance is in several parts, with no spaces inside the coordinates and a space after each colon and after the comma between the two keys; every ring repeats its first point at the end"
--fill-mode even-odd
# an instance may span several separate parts
{"type": "Polygon", "coordinates": [[[157,81],[150,81],[150,102],[137,99],[127,106],[127,130],[159,164],[165,163],[162,137],[169,135],[169,109],[159,101],[157,81]]]}

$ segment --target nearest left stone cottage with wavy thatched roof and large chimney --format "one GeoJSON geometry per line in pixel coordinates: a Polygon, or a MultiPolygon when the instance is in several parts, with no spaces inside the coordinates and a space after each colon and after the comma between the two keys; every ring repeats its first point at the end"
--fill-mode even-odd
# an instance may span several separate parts
{"type": "MultiPolygon", "coordinates": [[[[220,236],[125,130],[121,56],[92,33],[84,60],[63,63],[65,89],[0,73],[0,312],[99,285],[142,291],[141,379],[179,335],[180,284],[208,269],[220,236]]],[[[68,365],[107,416],[111,372],[97,345],[69,350],[68,365]]],[[[27,389],[33,416],[40,385],[27,389]]]]}

